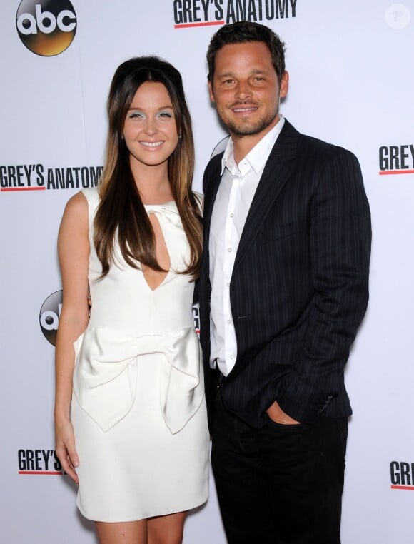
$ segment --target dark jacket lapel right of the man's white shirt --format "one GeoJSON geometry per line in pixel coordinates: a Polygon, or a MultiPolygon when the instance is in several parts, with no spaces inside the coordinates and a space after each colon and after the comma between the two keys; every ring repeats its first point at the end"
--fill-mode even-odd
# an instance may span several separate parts
{"type": "Polygon", "coordinates": [[[234,261],[234,268],[241,262],[259,228],[268,215],[283,185],[291,175],[289,164],[296,156],[299,133],[285,119],[285,124],[266,162],[261,181],[253,197],[234,261]]]}

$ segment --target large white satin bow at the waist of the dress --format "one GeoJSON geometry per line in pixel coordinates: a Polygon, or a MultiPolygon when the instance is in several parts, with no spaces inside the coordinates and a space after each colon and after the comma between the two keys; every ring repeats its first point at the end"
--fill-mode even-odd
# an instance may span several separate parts
{"type": "Polygon", "coordinates": [[[133,337],[113,328],[87,328],[74,343],[74,394],[104,432],[131,410],[136,396],[136,358],[163,353],[161,411],[178,433],[203,401],[203,366],[193,327],[165,335],[133,337]]]}

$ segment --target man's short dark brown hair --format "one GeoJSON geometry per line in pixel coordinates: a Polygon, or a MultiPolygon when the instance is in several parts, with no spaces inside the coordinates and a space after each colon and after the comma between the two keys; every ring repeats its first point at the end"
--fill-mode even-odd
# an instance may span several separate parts
{"type": "Polygon", "coordinates": [[[249,21],[225,24],[211,38],[207,50],[208,81],[213,81],[217,51],[225,45],[243,44],[246,41],[263,41],[268,46],[280,84],[285,71],[285,44],[268,26],[249,21]]]}

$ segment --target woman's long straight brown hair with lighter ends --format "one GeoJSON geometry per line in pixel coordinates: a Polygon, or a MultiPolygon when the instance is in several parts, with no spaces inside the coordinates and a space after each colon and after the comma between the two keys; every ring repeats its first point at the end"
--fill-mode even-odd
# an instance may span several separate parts
{"type": "Polygon", "coordinates": [[[118,66],[109,91],[106,160],[94,219],[94,245],[102,265],[101,278],[115,264],[116,240],[129,266],[139,268],[144,264],[163,271],[156,260],[155,235],[133,179],[129,151],[122,138],[126,113],[138,87],[145,81],[166,86],[181,134],[175,151],[168,158],[168,180],[190,246],[190,259],[187,268],[177,272],[196,279],[201,263],[202,219],[200,203],[191,191],[194,171],[191,118],[180,73],[156,56],[135,57],[118,66]]]}

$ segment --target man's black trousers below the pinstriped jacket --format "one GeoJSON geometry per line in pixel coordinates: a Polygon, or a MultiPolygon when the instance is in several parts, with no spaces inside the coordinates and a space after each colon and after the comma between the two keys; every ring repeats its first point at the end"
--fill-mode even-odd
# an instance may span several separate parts
{"type": "Polygon", "coordinates": [[[340,544],[348,418],[261,430],[216,398],[211,461],[228,544],[340,544]]]}

